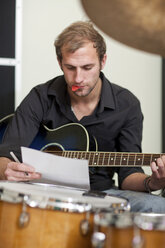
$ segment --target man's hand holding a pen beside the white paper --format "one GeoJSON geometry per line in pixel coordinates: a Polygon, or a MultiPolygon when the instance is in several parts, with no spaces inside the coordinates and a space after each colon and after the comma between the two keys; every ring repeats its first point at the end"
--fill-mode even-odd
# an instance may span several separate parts
{"type": "Polygon", "coordinates": [[[41,178],[41,174],[35,172],[32,166],[17,162],[9,162],[4,174],[10,181],[29,181],[41,178]]]}

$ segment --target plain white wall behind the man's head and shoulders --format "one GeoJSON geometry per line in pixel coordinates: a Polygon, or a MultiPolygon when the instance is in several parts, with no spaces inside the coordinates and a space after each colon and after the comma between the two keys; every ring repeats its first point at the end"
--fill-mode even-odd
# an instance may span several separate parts
{"type": "MultiPolygon", "coordinates": [[[[61,74],[54,39],[70,23],[88,19],[79,0],[23,0],[22,98],[33,86],[61,74]]],[[[140,99],[144,114],[143,152],[160,153],[161,57],[103,35],[108,55],[104,73],[140,99]]]]}

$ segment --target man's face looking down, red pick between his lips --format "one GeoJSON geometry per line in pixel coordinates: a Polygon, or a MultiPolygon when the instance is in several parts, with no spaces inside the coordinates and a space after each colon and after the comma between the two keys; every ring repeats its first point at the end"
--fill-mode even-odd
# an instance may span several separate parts
{"type": "Polygon", "coordinates": [[[77,96],[88,96],[100,81],[100,70],[103,69],[105,61],[106,55],[100,64],[92,42],[86,43],[74,53],[67,52],[65,47],[62,48],[62,62],[59,64],[68,84],[68,90],[77,96]]]}

